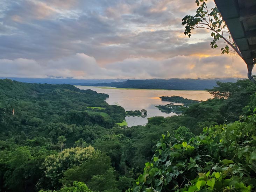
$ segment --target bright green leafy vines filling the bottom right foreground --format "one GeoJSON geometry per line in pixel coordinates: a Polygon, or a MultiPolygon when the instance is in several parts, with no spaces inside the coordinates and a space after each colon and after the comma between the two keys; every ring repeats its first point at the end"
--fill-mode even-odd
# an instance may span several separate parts
{"type": "Polygon", "coordinates": [[[162,135],[134,192],[240,191],[256,185],[256,115],[204,128],[189,142],[162,135]]]}

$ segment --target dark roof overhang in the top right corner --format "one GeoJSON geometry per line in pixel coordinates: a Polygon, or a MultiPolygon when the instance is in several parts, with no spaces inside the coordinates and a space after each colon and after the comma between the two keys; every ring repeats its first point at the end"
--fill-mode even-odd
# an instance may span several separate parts
{"type": "Polygon", "coordinates": [[[256,61],[256,0],[214,0],[246,64],[256,61]]]}

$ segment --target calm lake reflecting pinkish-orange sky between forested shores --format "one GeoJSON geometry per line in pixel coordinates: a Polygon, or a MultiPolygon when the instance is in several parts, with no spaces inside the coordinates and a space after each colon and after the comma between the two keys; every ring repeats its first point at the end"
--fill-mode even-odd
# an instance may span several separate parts
{"type": "MultiPolygon", "coordinates": [[[[161,96],[180,96],[187,99],[205,101],[211,98],[211,95],[206,91],[187,91],[187,90],[145,90],[145,89],[119,89],[112,87],[91,87],[91,86],[77,86],[79,89],[91,89],[97,93],[106,93],[109,98],[106,102],[109,105],[119,105],[125,109],[125,111],[134,111],[145,109],[148,111],[146,118],[142,117],[126,117],[128,126],[145,125],[148,120],[147,118],[154,116],[172,116],[175,113],[163,113],[156,105],[170,104],[168,101],[162,101],[159,97],[161,96]]],[[[175,103],[178,105],[178,103],[175,103]]],[[[182,105],[182,104],[180,104],[182,105]]]]}

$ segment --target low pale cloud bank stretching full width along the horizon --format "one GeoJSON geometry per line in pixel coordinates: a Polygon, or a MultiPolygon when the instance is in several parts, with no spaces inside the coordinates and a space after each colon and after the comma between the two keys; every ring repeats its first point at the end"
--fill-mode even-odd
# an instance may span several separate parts
{"type": "Polygon", "coordinates": [[[76,79],[226,78],[245,77],[240,59],[228,56],[175,56],[169,59],[129,58],[101,67],[84,53],[38,63],[31,59],[0,59],[0,77],[72,77],[76,79]]]}

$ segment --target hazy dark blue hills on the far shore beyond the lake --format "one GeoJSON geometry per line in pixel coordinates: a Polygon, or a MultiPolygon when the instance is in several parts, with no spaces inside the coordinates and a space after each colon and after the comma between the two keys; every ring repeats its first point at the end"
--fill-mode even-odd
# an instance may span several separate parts
{"type": "MultiPolygon", "coordinates": [[[[140,89],[167,89],[167,90],[205,90],[216,86],[216,81],[235,82],[234,78],[227,79],[146,79],[127,80],[123,82],[98,83],[92,86],[109,86],[117,88],[140,88],[140,89]]],[[[76,84],[87,85],[87,84],[76,84]]]]}

